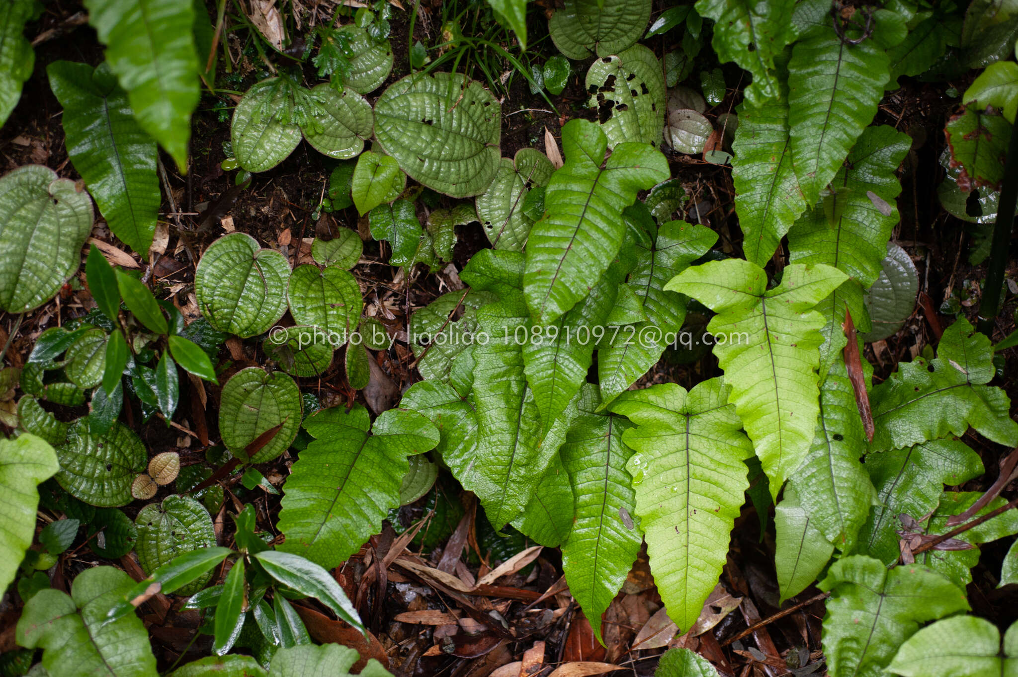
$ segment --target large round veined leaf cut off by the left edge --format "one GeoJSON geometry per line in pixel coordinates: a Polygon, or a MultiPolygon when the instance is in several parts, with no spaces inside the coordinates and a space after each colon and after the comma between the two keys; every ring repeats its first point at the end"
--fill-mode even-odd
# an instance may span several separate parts
{"type": "Polygon", "coordinates": [[[0,178],[0,310],[27,312],[56,296],[81,262],[92,222],[89,194],[48,167],[0,178]]]}

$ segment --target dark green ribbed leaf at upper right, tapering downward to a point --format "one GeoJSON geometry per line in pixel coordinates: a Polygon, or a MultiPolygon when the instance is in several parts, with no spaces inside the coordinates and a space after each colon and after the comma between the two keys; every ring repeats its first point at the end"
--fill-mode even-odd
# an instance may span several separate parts
{"type": "Polygon", "coordinates": [[[816,201],[876,114],[888,68],[887,53],[872,40],[849,45],[830,25],[796,43],[788,63],[788,123],[807,204],[816,201]]]}

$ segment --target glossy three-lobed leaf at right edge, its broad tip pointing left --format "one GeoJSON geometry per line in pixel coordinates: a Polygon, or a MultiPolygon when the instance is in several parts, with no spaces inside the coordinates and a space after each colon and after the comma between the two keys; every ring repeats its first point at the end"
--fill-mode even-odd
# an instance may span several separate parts
{"type": "Polygon", "coordinates": [[[961,436],[968,427],[999,444],[1018,443],[1018,424],[1008,415],[1011,401],[994,377],[989,338],[964,317],[944,331],[931,361],[917,357],[869,395],[875,431],[871,451],[961,436]]]}

